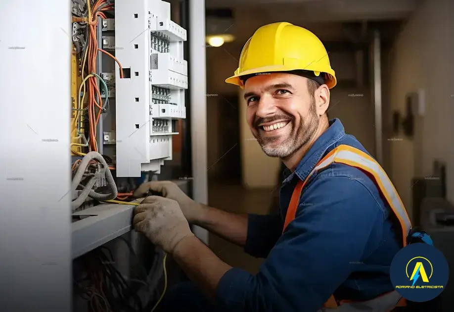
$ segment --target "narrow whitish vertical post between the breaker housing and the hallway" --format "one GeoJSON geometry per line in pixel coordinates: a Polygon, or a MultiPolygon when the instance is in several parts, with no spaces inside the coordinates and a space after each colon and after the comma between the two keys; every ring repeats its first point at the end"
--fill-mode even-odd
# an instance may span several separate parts
{"type": "MultiPolygon", "coordinates": [[[[208,204],[205,0],[188,2],[193,198],[208,204]]],[[[194,234],[208,244],[208,231],[195,226],[194,234]]]]}

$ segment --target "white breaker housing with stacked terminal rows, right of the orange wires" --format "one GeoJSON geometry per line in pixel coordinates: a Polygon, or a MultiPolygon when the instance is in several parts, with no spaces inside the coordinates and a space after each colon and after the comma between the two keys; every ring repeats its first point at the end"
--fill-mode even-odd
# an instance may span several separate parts
{"type": "MultiPolygon", "coordinates": [[[[116,146],[117,177],[160,172],[172,159],[172,120],[186,118],[188,86],[183,59],[186,30],[170,19],[170,3],[161,0],[116,0],[115,19],[102,20],[102,49],[115,51],[122,65],[103,72],[109,98],[115,98],[115,131],[104,144],[116,146]]],[[[101,97],[105,97],[105,92],[101,97]]]]}

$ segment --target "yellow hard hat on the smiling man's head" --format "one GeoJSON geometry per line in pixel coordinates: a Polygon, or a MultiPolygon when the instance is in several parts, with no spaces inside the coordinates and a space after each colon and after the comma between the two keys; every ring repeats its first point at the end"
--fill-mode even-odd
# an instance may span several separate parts
{"type": "Polygon", "coordinates": [[[246,42],[238,68],[226,82],[244,88],[241,76],[291,70],[312,71],[315,77],[323,73],[329,89],[336,85],[328,53],[316,35],[290,23],[272,23],[260,27],[246,42]]]}

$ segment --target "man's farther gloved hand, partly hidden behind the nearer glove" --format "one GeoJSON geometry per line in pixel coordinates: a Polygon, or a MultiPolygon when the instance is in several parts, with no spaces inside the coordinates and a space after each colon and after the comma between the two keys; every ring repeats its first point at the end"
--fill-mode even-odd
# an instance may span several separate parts
{"type": "Polygon", "coordinates": [[[189,198],[177,184],[171,181],[145,182],[138,187],[133,196],[136,198],[146,197],[148,191],[162,193],[163,197],[177,201],[189,223],[200,221],[203,217],[204,209],[202,205],[189,198]]]}

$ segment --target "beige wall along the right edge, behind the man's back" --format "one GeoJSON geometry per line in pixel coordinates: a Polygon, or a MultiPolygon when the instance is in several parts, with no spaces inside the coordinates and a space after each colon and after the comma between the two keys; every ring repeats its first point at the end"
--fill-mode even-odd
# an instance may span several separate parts
{"type": "MultiPolygon", "coordinates": [[[[432,174],[432,161],[447,161],[448,197],[454,200],[454,1],[423,1],[401,30],[391,54],[391,111],[405,112],[405,95],[423,88],[426,113],[418,127],[422,137],[421,174],[432,174]]],[[[387,130],[389,133],[389,129],[387,130]]],[[[393,182],[411,213],[411,178],[414,175],[414,142],[404,138],[390,146],[393,182]]]]}

